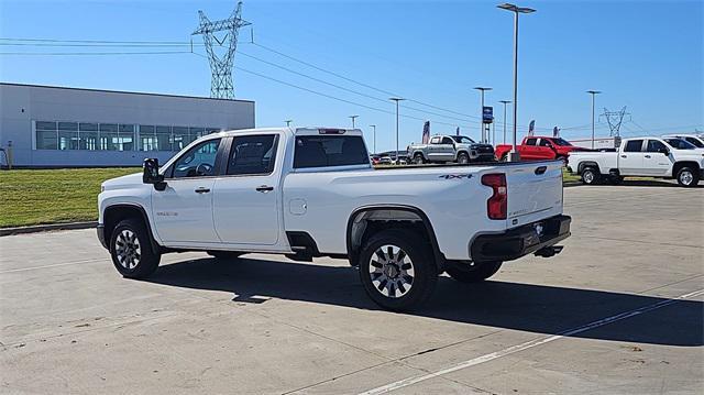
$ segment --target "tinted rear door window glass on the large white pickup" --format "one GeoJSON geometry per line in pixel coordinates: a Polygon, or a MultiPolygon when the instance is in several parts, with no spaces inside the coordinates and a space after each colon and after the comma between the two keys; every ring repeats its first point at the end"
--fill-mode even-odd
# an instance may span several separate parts
{"type": "Polygon", "coordinates": [[[276,134],[244,135],[232,140],[229,175],[271,174],[276,162],[276,134]]]}

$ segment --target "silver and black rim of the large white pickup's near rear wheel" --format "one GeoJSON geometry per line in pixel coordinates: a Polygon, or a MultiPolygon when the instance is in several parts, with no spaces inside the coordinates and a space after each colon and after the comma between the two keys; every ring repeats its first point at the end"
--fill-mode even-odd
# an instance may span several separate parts
{"type": "Polygon", "coordinates": [[[376,249],[370,260],[370,277],[376,290],[389,298],[408,294],[414,284],[414,263],[406,251],[385,244],[376,249]]]}

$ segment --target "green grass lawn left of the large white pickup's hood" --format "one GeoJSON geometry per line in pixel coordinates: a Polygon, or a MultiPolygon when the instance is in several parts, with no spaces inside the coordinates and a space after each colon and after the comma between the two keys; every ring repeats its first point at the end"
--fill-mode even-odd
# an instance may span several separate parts
{"type": "Polygon", "coordinates": [[[0,228],[95,221],[106,179],[139,167],[0,171],[0,228]]]}

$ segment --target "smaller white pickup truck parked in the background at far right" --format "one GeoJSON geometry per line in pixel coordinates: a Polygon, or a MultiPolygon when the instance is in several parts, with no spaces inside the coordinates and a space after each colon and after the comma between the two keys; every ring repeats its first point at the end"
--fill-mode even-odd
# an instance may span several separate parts
{"type": "Polygon", "coordinates": [[[704,177],[704,150],[676,138],[624,139],[615,152],[573,152],[568,169],[580,174],[584,184],[646,176],[694,187],[704,177]]]}

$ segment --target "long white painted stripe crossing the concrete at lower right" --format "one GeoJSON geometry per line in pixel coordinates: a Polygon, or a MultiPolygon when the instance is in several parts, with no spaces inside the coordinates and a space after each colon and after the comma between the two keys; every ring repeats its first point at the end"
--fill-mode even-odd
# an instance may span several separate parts
{"type": "Polygon", "coordinates": [[[658,303],[652,304],[652,305],[648,305],[648,306],[644,306],[644,307],[637,308],[635,310],[617,314],[615,316],[603,318],[603,319],[600,319],[600,320],[583,325],[583,326],[574,328],[574,329],[568,329],[568,330],[565,330],[563,332],[560,332],[560,333],[557,333],[557,334],[553,334],[553,336],[550,336],[550,337],[547,337],[547,338],[535,339],[535,340],[527,341],[527,342],[521,343],[521,344],[516,344],[516,345],[509,347],[509,348],[501,350],[501,351],[492,352],[492,353],[488,353],[488,354],[484,354],[484,355],[471,359],[469,361],[461,362],[459,364],[455,364],[454,366],[451,366],[451,367],[448,367],[448,369],[443,369],[443,370],[440,370],[440,371],[437,371],[437,372],[428,373],[428,374],[420,375],[420,376],[404,378],[404,380],[400,380],[400,381],[397,381],[397,382],[394,382],[394,383],[391,383],[391,384],[386,384],[386,385],[376,387],[374,389],[370,389],[367,392],[361,393],[360,395],[385,394],[385,393],[388,393],[388,392],[392,392],[392,391],[395,391],[395,389],[399,389],[399,388],[407,387],[407,386],[413,385],[413,384],[417,384],[417,383],[424,382],[426,380],[430,380],[430,378],[433,378],[433,377],[441,376],[443,374],[457,372],[457,371],[465,369],[465,367],[479,365],[481,363],[490,362],[490,361],[496,360],[498,358],[506,356],[508,354],[513,354],[513,353],[516,353],[516,352],[519,352],[519,351],[531,349],[534,347],[538,347],[538,345],[541,345],[541,344],[546,344],[546,343],[556,341],[558,339],[562,339],[564,337],[578,334],[578,333],[581,333],[581,332],[585,332],[587,330],[592,330],[594,328],[598,328],[598,327],[602,327],[602,326],[605,326],[605,325],[608,325],[608,323],[620,321],[620,320],[626,319],[626,318],[639,316],[641,314],[645,314],[645,312],[648,312],[648,311],[652,311],[652,310],[659,309],[661,307],[666,307],[666,306],[672,305],[674,303],[681,301],[683,299],[689,299],[689,298],[696,297],[696,296],[700,296],[700,295],[704,295],[704,289],[700,289],[700,290],[696,290],[696,292],[693,292],[693,293],[681,295],[681,296],[678,296],[678,297],[672,298],[672,299],[661,300],[661,301],[658,301],[658,303]]]}

